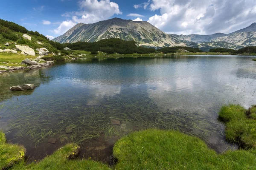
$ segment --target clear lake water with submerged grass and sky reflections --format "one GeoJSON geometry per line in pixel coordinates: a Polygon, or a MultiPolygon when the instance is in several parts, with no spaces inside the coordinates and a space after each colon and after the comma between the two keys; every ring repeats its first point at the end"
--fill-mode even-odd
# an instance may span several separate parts
{"type": "Polygon", "coordinates": [[[81,157],[110,163],[121,136],[146,128],[175,129],[203,139],[218,153],[224,140],[221,105],[256,104],[256,62],[246,56],[79,59],[0,75],[0,129],[42,159],[68,142],[81,157]],[[14,85],[36,85],[12,92],[14,85]],[[115,125],[113,125],[115,124],[115,125]],[[73,133],[66,133],[66,128],[73,133]],[[55,144],[47,143],[49,138],[55,144]]]}

